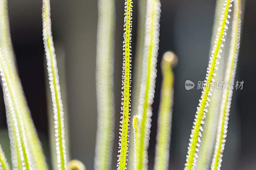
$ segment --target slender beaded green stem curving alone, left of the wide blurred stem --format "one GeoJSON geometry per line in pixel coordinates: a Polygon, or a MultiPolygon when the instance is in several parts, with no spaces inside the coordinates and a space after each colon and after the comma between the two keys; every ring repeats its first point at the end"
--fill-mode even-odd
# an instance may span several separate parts
{"type": "Polygon", "coordinates": [[[49,84],[52,93],[52,105],[55,119],[55,136],[58,168],[66,170],[67,156],[64,137],[64,113],[60,94],[59,75],[57,61],[52,40],[52,28],[50,18],[50,0],[43,0],[42,18],[43,18],[43,40],[47,59],[47,70],[49,84]]]}

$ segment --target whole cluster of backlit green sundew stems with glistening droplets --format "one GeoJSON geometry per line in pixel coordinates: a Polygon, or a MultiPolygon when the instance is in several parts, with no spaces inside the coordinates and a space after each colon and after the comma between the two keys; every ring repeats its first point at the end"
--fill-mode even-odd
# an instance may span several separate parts
{"type": "MultiPolygon", "coordinates": [[[[161,58],[158,56],[161,1],[139,0],[138,8],[135,8],[138,9],[138,16],[132,16],[133,6],[137,4],[134,4],[132,0],[123,1],[124,40],[123,64],[120,65],[122,67],[122,90],[121,120],[117,121],[119,124],[118,135],[114,131],[116,121],[114,61],[115,58],[120,57],[120,54],[115,56],[114,49],[115,44],[121,48],[121,43],[115,42],[115,31],[118,28],[116,16],[119,14],[116,14],[118,10],[116,10],[114,0],[98,0],[95,56],[97,134],[94,169],[112,169],[112,162],[115,162],[117,170],[172,169],[172,165],[169,168],[169,160],[172,115],[175,114],[172,111],[172,107],[175,107],[174,85],[176,78],[173,69],[178,64],[178,57],[172,51],[165,52],[161,58]],[[133,17],[138,18],[135,60],[132,56],[134,48],[132,46],[133,17]],[[161,70],[157,70],[157,63],[160,63],[161,70]],[[134,68],[132,64],[134,64],[134,68]],[[156,100],[154,97],[157,71],[161,71],[162,79],[159,83],[161,89],[158,113],[154,113],[152,106],[156,100]],[[134,74],[134,83],[132,83],[132,73],[134,74]],[[132,92],[133,90],[134,92],[132,92]],[[155,159],[151,163],[148,160],[148,147],[153,114],[157,115],[157,128],[155,129],[155,159]],[[118,146],[114,143],[115,136],[119,137],[118,146]],[[118,153],[113,152],[117,147],[118,153]],[[153,166],[150,167],[150,165],[153,166]]],[[[218,170],[221,167],[227,137],[228,116],[232,114],[230,106],[240,48],[242,12],[244,12],[244,7],[241,0],[217,0],[212,30],[212,49],[203,82],[202,95],[196,108],[186,159],[184,155],[184,161],[186,161],[184,169],[205,170],[210,168],[218,170]],[[225,51],[229,52],[228,55],[225,51]],[[213,89],[215,81],[222,78],[228,82],[227,88],[213,89]],[[204,119],[206,119],[205,122],[204,119]],[[205,129],[204,132],[202,132],[203,129],[205,129]]],[[[61,98],[58,58],[56,58],[52,35],[50,0],[42,0],[42,25],[42,46],[44,46],[47,83],[49,83],[47,90],[51,93],[49,116],[54,120],[54,124],[50,124],[49,128],[51,134],[54,134],[54,150],[51,152],[55,158],[52,158],[52,166],[46,162],[47,157],[44,155],[28,109],[16,66],[7,0],[0,0],[0,79],[12,157],[12,162],[8,162],[4,147],[2,148],[0,144],[0,170],[86,170],[86,165],[81,161],[69,160],[70,153],[66,141],[68,138],[65,136],[68,136],[68,128],[65,127],[64,121],[67,116],[64,115],[65,110],[63,109],[66,108],[63,104],[65,105],[67,102],[63,102],[63,98],[61,98]]],[[[63,100],[65,101],[65,99],[63,100]]],[[[84,155],[87,154],[84,153],[84,155]]]]}

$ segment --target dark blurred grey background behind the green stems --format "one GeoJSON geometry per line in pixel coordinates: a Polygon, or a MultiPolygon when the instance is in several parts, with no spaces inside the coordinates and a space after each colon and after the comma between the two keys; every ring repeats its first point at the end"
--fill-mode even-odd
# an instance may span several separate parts
{"type": "MultiPolygon", "coordinates": [[[[136,44],[137,1],[133,1],[132,53],[136,44]]],[[[49,132],[46,105],[45,59],[42,40],[40,0],[8,1],[11,36],[21,83],[36,129],[44,145],[48,162],[49,132]]],[[[175,68],[170,169],[184,168],[188,139],[201,90],[187,91],[184,84],[204,80],[212,33],[215,0],[162,0],[158,61],[167,50],[179,57],[175,68]]],[[[256,168],[256,1],[246,0],[244,28],[236,80],[244,81],[243,90],[235,90],[230,110],[228,137],[222,162],[224,170],[256,168]]],[[[79,159],[93,169],[96,135],[96,31],[97,1],[51,1],[52,33],[56,55],[65,56],[62,77],[66,79],[71,159],[79,159]]],[[[116,169],[118,129],[121,107],[121,69],[124,25],[124,1],[116,1],[115,104],[116,129],[112,169],[116,169]]],[[[132,55],[133,57],[134,55],[132,55]]],[[[134,61],[134,58],[132,58],[134,61]]],[[[149,169],[154,162],[157,110],[161,73],[157,65],[156,93],[153,104],[149,145],[149,169]]],[[[61,73],[60,73],[61,74],[61,73]]],[[[64,79],[63,78],[63,79],[64,79]]],[[[61,79],[61,75],[60,75],[61,79]]],[[[47,83],[47,85],[46,85],[47,83]]],[[[63,85],[61,85],[63,86],[63,85]]],[[[47,87],[47,88],[46,88],[47,87]]],[[[0,92],[2,96],[2,91],[0,92]]],[[[8,135],[3,98],[0,98],[0,142],[8,156],[8,135]]],[[[130,153],[132,154],[132,153],[130,153]]]]}

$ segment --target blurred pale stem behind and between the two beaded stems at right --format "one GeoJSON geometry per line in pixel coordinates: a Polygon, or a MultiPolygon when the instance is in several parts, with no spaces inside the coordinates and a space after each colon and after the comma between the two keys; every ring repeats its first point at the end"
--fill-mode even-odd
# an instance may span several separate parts
{"type": "MultiPolygon", "coordinates": [[[[216,1],[216,7],[215,7],[215,16],[214,16],[214,25],[212,28],[212,38],[211,38],[211,48],[213,48],[214,41],[216,39],[216,34],[218,33],[218,28],[220,26],[220,16],[221,11],[223,8],[224,0],[217,0],[216,1]]],[[[225,42],[223,42],[225,44],[225,42]]],[[[214,77],[215,82],[222,81],[223,78],[223,68],[224,68],[224,61],[226,55],[225,55],[225,49],[223,49],[223,52],[220,53],[220,61],[218,65],[218,70],[214,70],[214,73],[216,73],[216,76],[214,77]]],[[[211,53],[211,51],[210,51],[211,53]]],[[[213,150],[214,150],[214,144],[217,134],[217,124],[218,124],[218,118],[219,118],[219,108],[220,108],[220,100],[221,100],[221,94],[222,89],[213,88],[212,89],[212,96],[211,101],[209,102],[209,107],[207,107],[207,117],[205,118],[204,123],[204,131],[202,132],[202,142],[200,144],[200,150],[198,152],[198,158],[196,160],[196,170],[205,170],[209,169],[209,166],[211,164],[213,150]]]]}

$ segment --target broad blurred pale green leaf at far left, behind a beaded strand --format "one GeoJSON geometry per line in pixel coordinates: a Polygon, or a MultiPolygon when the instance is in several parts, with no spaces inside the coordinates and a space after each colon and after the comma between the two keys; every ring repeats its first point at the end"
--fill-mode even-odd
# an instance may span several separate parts
{"type": "MultiPolygon", "coordinates": [[[[38,170],[46,170],[47,164],[45,162],[45,157],[43,154],[41,143],[38,139],[36,129],[34,123],[32,121],[30,111],[28,109],[27,101],[24,96],[24,92],[20,83],[20,79],[17,73],[16,65],[15,65],[15,56],[12,48],[11,36],[10,36],[10,26],[9,26],[9,17],[8,17],[8,10],[7,10],[7,1],[0,0],[0,45],[3,52],[3,57],[6,61],[6,66],[9,70],[10,78],[12,81],[12,85],[16,91],[16,97],[19,101],[20,113],[22,115],[22,121],[24,122],[24,130],[25,135],[28,143],[28,154],[30,155],[31,164],[35,166],[38,170]]],[[[11,120],[11,116],[9,110],[6,110],[7,114],[7,122],[8,129],[9,129],[9,136],[11,139],[11,148],[12,148],[12,160],[13,166],[17,167],[18,164],[21,166],[20,161],[17,157],[17,152],[15,152],[16,145],[15,144],[15,137],[12,137],[11,134],[13,131],[12,126],[13,122],[11,120]],[[12,123],[11,123],[12,122],[12,123]]]]}

